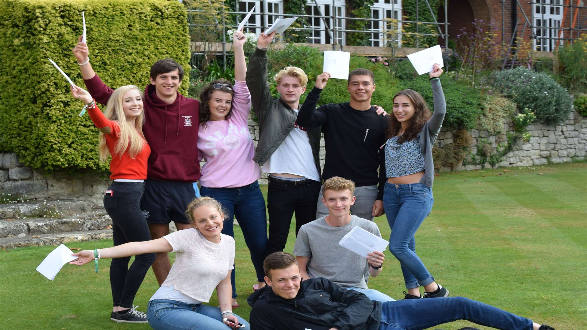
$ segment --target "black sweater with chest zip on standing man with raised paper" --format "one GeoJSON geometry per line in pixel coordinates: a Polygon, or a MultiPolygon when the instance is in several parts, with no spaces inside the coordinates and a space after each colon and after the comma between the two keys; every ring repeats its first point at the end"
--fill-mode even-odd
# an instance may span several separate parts
{"type": "Polygon", "coordinates": [[[321,92],[314,87],[308,93],[297,122],[305,127],[322,126],[326,142],[322,179],[339,176],[355,181],[357,187],[379,184],[377,200],[383,200],[386,177],[384,153],[379,147],[386,141],[389,119],[377,115],[375,107],[360,111],[350,107],[349,102],[328,103],[316,109],[321,92]]]}

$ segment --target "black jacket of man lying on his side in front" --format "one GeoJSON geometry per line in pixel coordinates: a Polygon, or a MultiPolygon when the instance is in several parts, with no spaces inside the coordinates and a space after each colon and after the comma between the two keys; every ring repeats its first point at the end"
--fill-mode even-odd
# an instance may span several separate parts
{"type": "Polygon", "coordinates": [[[377,330],[381,322],[381,302],[323,277],[303,281],[294,299],[281,298],[266,286],[247,302],[251,330],[377,330]]]}

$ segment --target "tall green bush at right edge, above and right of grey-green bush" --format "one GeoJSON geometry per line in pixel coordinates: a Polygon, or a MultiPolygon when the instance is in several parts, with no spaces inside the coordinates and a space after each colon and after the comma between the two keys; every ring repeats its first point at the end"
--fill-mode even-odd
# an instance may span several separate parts
{"type": "Polygon", "coordinates": [[[571,92],[587,93],[587,35],[556,50],[558,81],[571,92]]]}

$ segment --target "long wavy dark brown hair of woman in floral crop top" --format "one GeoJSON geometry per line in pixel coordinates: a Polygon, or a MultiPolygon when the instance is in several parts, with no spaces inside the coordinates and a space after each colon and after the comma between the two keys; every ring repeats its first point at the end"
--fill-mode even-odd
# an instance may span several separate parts
{"type": "MultiPolygon", "coordinates": [[[[402,144],[406,141],[415,139],[418,136],[422,127],[424,127],[424,124],[430,119],[431,114],[424,97],[422,97],[420,93],[411,89],[400,90],[395,96],[393,96],[393,102],[395,102],[396,97],[400,95],[407,96],[416,110],[402,136],[400,136],[397,141],[397,143],[402,144]]],[[[398,122],[396,116],[392,113],[392,115],[389,116],[389,126],[387,126],[387,139],[398,135],[401,130],[402,123],[398,122]]]]}

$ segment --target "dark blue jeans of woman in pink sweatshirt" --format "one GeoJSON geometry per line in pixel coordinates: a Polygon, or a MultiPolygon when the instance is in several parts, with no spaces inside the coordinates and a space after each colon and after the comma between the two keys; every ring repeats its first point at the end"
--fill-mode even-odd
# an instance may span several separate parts
{"type": "MultiPolygon", "coordinates": [[[[245,243],[251,251],[251,261],[257,272],[257,281],[263,282],[265,271],[263,261],[267,244],[267,214],[265,213],[265,199],[259,189],[259,183],[255,181],[248,186],[238,188],[208,188],[201,187],[202,196],[212,197],[219,201],[224,208],[224,214],[228,220],[224,221],[222,234],[234,237],[234,217],[237,217],[241,227],[245,243]]],[[[237,298],[235,287],[235,272],[232,270],[230,281],[232,283],[232,298],[237,298]]]]}

